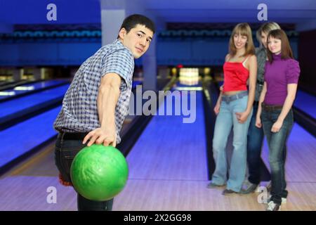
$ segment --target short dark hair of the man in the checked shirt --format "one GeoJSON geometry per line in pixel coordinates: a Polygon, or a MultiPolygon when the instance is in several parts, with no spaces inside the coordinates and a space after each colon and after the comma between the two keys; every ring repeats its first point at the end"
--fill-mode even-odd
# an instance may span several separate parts
{"type": "MultiPolygon", "coordinates": [[[[138,24],[145,25],[145,27],[147,27],[153,33],[155,32],[154,22],[152,22],[152,20],[150,20],[150,18],[147,18],[145,15],[139,14],[133,14],[126,17],[123,23],[121,24],[121,28],[125,28],[126,33],[128,33],[138,24]]],[[[119,30],[121,30],[121,28],[119,28],[119,30]]]]}

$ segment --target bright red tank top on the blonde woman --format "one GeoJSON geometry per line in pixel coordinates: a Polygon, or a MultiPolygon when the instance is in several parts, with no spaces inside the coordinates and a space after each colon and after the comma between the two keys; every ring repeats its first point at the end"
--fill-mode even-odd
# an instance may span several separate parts
{"type": "MultiPolygon", "coordinates": [[[[248,57],[247,57],[248,58],[248,57]]],[[[247,60],[244,59],[244,61],[247,60]]],[[[224,70],[224,87],[223,92],[226,91],[246,91],[247,80],[249,78],[249,70],[242,65],[244,63],[225,62],[224,70]]]]}

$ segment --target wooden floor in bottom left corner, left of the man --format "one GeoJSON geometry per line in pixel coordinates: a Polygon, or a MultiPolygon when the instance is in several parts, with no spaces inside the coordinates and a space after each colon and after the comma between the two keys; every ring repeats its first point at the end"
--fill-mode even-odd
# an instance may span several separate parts
{"type": "Polygon", "coordinates": [[[0,210],[77,210],[76,193],[58,182],[54,147],[54,142],[49,143],[32,158],[1,176],[0,210]],[[56,203],[51,203],[51,187],[57,193],[56,203]]]}

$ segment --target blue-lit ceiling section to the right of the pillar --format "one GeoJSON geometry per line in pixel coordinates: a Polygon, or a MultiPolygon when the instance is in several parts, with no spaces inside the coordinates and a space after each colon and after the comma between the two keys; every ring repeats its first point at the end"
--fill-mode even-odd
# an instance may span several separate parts
{"type": "Polygon", "coordinates": [[[258,22],[258,5],[268,8],[268,20],[303,23],[316,19],[315,0],[143,0],[145,7],[169,23],[258,22]]]}

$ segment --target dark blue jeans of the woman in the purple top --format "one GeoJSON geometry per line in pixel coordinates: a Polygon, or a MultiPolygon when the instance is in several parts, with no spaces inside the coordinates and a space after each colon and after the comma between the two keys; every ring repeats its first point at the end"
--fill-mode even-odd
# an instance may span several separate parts
{"type": "Polygon", "coordinates": [[[267,137],[269,147],[269,163],[271,171],[271,200],[274,203],[281,204],[282,198],[287,198],[287,182],[285,181],[284,164],[287,155],[287,138],[294,124],[293,111],[290,110],[285,117],[281,129],[273,133],[272,125],[277,121],[277,117],[282,109],[265,110],[261,113],[261,122],[263,131],[267,137]]]}

